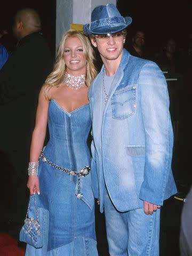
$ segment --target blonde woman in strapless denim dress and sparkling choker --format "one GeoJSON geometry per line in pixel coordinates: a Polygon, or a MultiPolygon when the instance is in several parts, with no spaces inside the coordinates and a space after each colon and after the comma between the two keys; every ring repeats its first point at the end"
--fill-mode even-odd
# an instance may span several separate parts
{"type": "MultiPolygon", "coordinates": [[[[39,195],[38,206],[49,210],[50,216],[47,252],[41,255],[98,255],[87,147],[91,129],[87,91],[96,75],[89,39],[79,31],[67,31],[39,93],[30,148],[27,187],[31,195],[39,195]],[[50,140],[42,150],[47,122],[50,140]]],[[[32,256],[31,250],[28,246],[26,255],[32,256]]]]}

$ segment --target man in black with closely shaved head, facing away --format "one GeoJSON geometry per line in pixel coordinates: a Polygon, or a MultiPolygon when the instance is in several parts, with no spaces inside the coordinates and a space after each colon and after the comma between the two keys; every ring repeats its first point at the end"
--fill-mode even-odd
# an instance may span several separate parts
{"type": "Polygon", "coordinates": [[[41,19],[33,9],[14,18],[16,50],[0,71],[1,214],[13,222],[25,218],[28,154],[34,129],[38,91],[52,69],[52,57],[41,32],[41,19]],[[6,209],[6,206],[8,209],[6,209]]]}

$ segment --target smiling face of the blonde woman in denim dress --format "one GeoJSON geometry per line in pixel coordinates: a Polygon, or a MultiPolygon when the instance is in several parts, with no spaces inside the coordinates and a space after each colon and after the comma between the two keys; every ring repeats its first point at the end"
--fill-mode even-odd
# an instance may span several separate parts
{"type": "Polygon", "coordinates": [[[64,60],[67,73],[79,76],[86,73],[86,57],[82,42],[78,37],[71,36],[66,39],[64,46],[64,60]]]}

